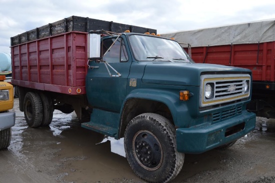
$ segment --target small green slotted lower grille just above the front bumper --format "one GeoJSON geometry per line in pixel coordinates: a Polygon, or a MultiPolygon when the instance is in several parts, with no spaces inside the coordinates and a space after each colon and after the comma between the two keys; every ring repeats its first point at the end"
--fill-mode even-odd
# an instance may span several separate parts
{"type": "Polygon", "coordinates": [[[220,120],[224,120],[226,118],[233,117],[240,113],[241,113],[241,106],[223,110],[221,112],[215,112],[215,113],[213,113],[213,122],[219,122],[220,120]]]}

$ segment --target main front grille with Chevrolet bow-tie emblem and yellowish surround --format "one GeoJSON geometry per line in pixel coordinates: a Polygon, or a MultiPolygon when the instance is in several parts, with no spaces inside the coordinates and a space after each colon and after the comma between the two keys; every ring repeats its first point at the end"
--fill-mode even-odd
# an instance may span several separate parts
{"type": "Polygon", "coordinates": [[[248,98],[250,94],[249,74],[218,74],[200,76],[200,107],[235,101],[241,98],[248,98]],[[245,85],[248,83],[248,89],[245,85]],[[210,97],[205,97],[205,87],[210,85],[212,92],[210,97]]]}

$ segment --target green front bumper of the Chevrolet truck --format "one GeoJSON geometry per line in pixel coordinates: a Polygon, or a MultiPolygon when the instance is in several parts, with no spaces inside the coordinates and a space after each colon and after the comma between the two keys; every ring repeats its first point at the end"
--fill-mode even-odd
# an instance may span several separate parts
{"type": "Polygon", "coordinates": [[[177,128],[177,151],[183,153],[205,152],[244,136],[255,128],[255,122],[255,114],[246,112],[200,128],[177,128]]]}

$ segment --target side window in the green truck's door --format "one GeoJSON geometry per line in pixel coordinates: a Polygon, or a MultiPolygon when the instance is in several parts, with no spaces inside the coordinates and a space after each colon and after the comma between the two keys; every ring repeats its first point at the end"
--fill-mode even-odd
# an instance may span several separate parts
{"type": "MultiPolygon", "coordinates": [[[[101,43],[102,54],[105,54],[106,50],[114,42],[115,38],[104,39],[101,43]]],[[[103,56],[103,60],[108,63],[117,63],[120,61],[127,61],[128,55],[123,39],[118,38],[108,52],[103,56]]]]}

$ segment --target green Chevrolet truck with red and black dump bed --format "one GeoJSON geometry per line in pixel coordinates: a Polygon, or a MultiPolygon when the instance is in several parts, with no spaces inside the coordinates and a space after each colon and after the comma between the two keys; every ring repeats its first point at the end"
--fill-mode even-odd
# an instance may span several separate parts
{"type": "Polygon", "coordinates": [[[249,69],[194,63],[154,29],[71,16],[11,37],[11,58],[29,126],[74,110],[81,126],[124,138],[148,182],[172,180],[184,153],[227,148],[255,127],[249,69]]]}

